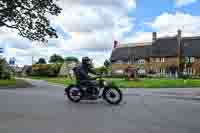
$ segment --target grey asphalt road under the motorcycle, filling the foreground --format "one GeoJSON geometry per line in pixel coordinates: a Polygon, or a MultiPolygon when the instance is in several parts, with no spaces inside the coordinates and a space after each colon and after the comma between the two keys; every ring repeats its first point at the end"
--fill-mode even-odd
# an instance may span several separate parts
{"type": "Polygon", "coordinates": [[[119,106],[78,104],[64,88],[35,81],[34,88],[0,90],[1,133],[199,133],[200,101],[125,96],[119,106]]]}

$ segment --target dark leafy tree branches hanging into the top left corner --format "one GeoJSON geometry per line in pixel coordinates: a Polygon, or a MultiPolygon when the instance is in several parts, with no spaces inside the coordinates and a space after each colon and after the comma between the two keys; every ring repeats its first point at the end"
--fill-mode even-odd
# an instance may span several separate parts
{"type": "Polygon", "coordinates": [[[16,29],[31,41],[47,41],[58,37],[47,16],[61,10],[55,0],[0,0],[0,28],[16,29]]]}

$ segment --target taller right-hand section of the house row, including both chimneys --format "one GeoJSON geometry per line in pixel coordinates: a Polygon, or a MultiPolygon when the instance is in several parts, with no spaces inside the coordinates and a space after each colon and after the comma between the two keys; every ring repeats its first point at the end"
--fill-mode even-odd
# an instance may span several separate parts
{"type": "Polygon", "coordinates": [[[177,75],[178,69],[187,75],[200,74],[200,37],[182,37],[180,30],[176,37],[153,36],[150,70],[164,75],[177,75]]]}

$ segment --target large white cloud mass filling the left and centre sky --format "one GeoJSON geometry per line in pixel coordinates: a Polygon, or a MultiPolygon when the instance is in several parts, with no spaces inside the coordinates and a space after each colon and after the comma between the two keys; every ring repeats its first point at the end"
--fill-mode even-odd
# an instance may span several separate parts
{"type": "Polygon", "coordinates": [[[49,46],[31,43],[19,37],[14,30],[1,28],[1,44],[6,46],[5,56],[16,57],[17,64],[31,64],[32,56],[49,59],[56,53],[64,57],[90,56],[96,65],[109,58],[113,40],[122,40],[124,33],[134,26],[134,18],[128,12],[136,8],[135,0],[61,0],[63,8],[58,17],[50,17],[54,26],[59,26],[69,35],[50,41],[49,46]],[[107,52],[102,52],[103,50],[107,52]]]}

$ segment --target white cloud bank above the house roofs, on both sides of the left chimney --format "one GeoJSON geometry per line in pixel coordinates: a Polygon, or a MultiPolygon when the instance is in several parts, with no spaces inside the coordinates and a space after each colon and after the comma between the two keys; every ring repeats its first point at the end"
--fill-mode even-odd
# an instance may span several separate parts
{"type": "MultiPolygon", "coordinates": [[[[183,36],[199,36],[200,16],[192,16],[187,13],[177,12],[175,14],[162,13],[152,22],[147,22],[147,26],[157,32],[158,37],[175,36],[177,30],[181,29],[183,36]]],[[[152,32],[138,31],[132,36],[123,40],[123,43],[130,42],[150,42],[152,32]]]]}

